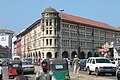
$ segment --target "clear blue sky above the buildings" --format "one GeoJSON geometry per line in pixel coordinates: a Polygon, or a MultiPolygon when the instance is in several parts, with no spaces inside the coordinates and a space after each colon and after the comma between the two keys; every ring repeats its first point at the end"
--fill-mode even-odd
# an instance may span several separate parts
{"type": "Polygon", "coordinates": [[[120,0],[0,0],[0,29],[19,33],[48,7],[120,27],[120,0]]]}

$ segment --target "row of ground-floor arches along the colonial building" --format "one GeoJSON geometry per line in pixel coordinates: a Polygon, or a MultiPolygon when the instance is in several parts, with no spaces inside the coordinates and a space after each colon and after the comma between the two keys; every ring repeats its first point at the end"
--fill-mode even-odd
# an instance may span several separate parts
{"type": "MultiPolygon", "coordinates": [[[[74,56],[77,55],[77,52],[76,51],[73,51],[71,53],[71,55],[67,52],[67,51],[64,51],[62,53],[62,58],[69,58],[69,59],[73,59],[74,56]]],[[[44,53],[41,53],[40,51],[37,53],[37,52],[33,52],[33,53],[30,53],[30,54],[27,54],[26,57],[34,57],[34,58],[44,58],[44,56],[46,56],[46,58],[52,58],[53,55],[51,52],[47,52],[47,54],[45,55],[44,53]]],[[[87,57],[86,57],[86,53],[84,51],[80,52],[80,54],[78,54],[78,57],[80,59],[84,59],[84,58],[88,58],[88,57],[92,57],[92,52],[88,52],[87,53],[87,57]]],[[[59,57],[59,54],[58,52],[56,52],[54,54],[54,58],[58,58],[59,57]]]]}

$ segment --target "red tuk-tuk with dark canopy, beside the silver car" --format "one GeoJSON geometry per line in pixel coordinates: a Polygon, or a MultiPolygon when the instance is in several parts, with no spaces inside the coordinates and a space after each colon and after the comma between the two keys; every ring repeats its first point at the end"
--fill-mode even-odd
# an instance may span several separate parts
{"type": "Polygon", "coordinates": [[[12,77],[14,78],[17,76],[17,68],[22,68],[22,62],[21,60],[10,60],[8,63],[8,76],[9,79],[12,77]]]}

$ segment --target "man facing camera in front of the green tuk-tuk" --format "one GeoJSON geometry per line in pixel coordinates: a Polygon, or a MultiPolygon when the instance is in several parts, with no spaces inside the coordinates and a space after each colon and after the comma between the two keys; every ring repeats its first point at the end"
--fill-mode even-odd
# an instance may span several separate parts
{"type": "Polygon", "coordinates": [[[40,71],[36,73],[35,80],[51,80],[51,75],[49,74],[49,71],[47,69],[47,62],[43,61],[42,62],[42,67],[40,71]]]}

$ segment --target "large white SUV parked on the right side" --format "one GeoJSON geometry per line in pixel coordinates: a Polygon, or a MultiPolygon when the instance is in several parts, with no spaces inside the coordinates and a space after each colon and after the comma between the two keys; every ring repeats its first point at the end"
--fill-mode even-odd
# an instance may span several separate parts
{"type": "Polygon", "coordinates": [[[90,57],[86,62],[87,73],[95,72],[96,75],[111,73],[116,75],[116,66],[110,59],[104,57],[90,57]]]}

